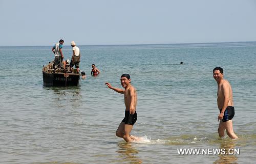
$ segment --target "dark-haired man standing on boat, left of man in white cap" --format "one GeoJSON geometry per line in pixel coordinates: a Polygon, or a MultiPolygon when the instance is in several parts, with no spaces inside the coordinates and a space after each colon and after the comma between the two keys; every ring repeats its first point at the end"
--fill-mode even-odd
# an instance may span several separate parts
{"type": "Polygon", "coordinates": [[[55,54],[55,66],[59,66],[61,68],[63,68],[63,53],[62,53],[62,44],[64,43],[64,41],[62,39],[59,40],[59,43],[56,43],[53,47],[52,47],[52,51],[55,54]]]}

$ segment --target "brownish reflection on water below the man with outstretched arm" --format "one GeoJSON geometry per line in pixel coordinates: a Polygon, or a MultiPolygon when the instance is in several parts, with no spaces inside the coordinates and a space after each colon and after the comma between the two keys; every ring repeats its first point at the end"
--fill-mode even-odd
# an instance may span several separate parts
{"type": "Polygon", "coordinates": [[[143,160],[139,159],[139,151],[135,148],[132,143],[118,143],[117,153],[120,154],[122,161],[127,161],[128,163],[142,163],[143,160]]]}

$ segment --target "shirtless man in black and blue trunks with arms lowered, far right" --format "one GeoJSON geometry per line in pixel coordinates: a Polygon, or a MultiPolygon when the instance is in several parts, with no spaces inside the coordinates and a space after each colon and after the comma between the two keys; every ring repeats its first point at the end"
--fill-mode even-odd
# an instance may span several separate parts
{"type": "Polygon", "coordinates": [[[214,68],[213,73],[218,84],[217,103],[220,110],[218,121],[221,120],[218,128],[219,136],[222,138],[226,129],[227,135],[231,139],[238,139],[233,131],[234,105],[231,86],[227,80],[223,79],[223,69],[221,67],[214,68]]]}

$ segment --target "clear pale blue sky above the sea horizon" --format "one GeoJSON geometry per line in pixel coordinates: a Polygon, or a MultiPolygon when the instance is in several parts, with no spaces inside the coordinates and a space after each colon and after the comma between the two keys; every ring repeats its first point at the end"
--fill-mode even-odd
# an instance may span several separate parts
{"type": "Polygon", "coordinates": [[[0,0],[0,46],[256,41],[254,0],[0,0]]]}

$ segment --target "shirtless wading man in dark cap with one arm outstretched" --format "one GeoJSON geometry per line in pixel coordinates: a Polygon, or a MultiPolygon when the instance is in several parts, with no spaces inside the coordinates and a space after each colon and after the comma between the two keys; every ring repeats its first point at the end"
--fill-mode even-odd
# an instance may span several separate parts
{"type": "Polygon", "coordinates": [[[129,74],[122,74],[120,81],[124,90],[114,88],[111,86],[110,83],[105,83],[105,85],[107,85],[110,89],[118,93],[124,94],[125,117],[118,126],[116,130],[116,135],[119,136],[120,138],[123,138],[127,143],[130,143],[140,139],[136,138],[133,135],[130,135],[133,125],[137,120],[137,93],[136,89],[131,85],[131,78],[129,74]]]}

